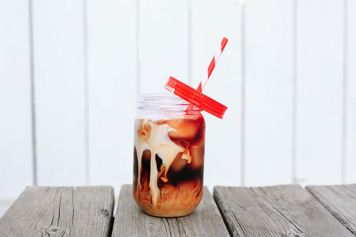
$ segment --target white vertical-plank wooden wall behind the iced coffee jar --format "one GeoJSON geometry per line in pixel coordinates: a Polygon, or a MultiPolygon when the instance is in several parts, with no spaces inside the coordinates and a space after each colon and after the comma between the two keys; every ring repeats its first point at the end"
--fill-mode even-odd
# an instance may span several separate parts
{"type": "Polygon", "coordinates": [[[117,195],[139,95],[198,86],[224,36],[205,185],[356,182],[355,0],[0,1],[0,216],[26,185],[117,195]]]}

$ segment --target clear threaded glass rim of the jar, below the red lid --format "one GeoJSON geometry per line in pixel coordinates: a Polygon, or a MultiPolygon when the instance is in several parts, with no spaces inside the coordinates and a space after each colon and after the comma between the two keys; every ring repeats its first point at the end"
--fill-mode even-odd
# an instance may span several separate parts
{"type": "Polygon", "coordinates": [[[147,113],[186,114],[188,106],[192,114],[203,111],[172,93],[142,94],[137,108],[147,113]]]}

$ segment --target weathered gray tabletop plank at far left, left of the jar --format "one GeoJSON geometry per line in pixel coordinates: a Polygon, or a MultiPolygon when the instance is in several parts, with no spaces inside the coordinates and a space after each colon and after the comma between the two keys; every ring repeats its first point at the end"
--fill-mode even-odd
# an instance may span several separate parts
{"type": "Polygon", "coordinates": [[[110,236],[112,187],[27,187],[0,219],[0,236],[110,236]]]}

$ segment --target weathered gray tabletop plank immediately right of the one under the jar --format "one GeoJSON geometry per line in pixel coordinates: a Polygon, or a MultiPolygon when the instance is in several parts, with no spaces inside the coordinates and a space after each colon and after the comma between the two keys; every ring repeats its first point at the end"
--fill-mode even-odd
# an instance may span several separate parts
{"type": "Polygon", "coordinates": [[[214,199],[231,236],[353,237],[299,185],[215,187],[214,199]]]}

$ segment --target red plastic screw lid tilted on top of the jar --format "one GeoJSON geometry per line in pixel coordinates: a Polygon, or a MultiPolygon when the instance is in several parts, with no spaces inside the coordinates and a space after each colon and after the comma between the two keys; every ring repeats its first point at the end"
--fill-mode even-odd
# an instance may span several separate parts
{"type": "Polygon", "coordinates": [[[169,77],[164,88],[218,118],[224,117],[226,106],[172,76],[169,77]]]}

